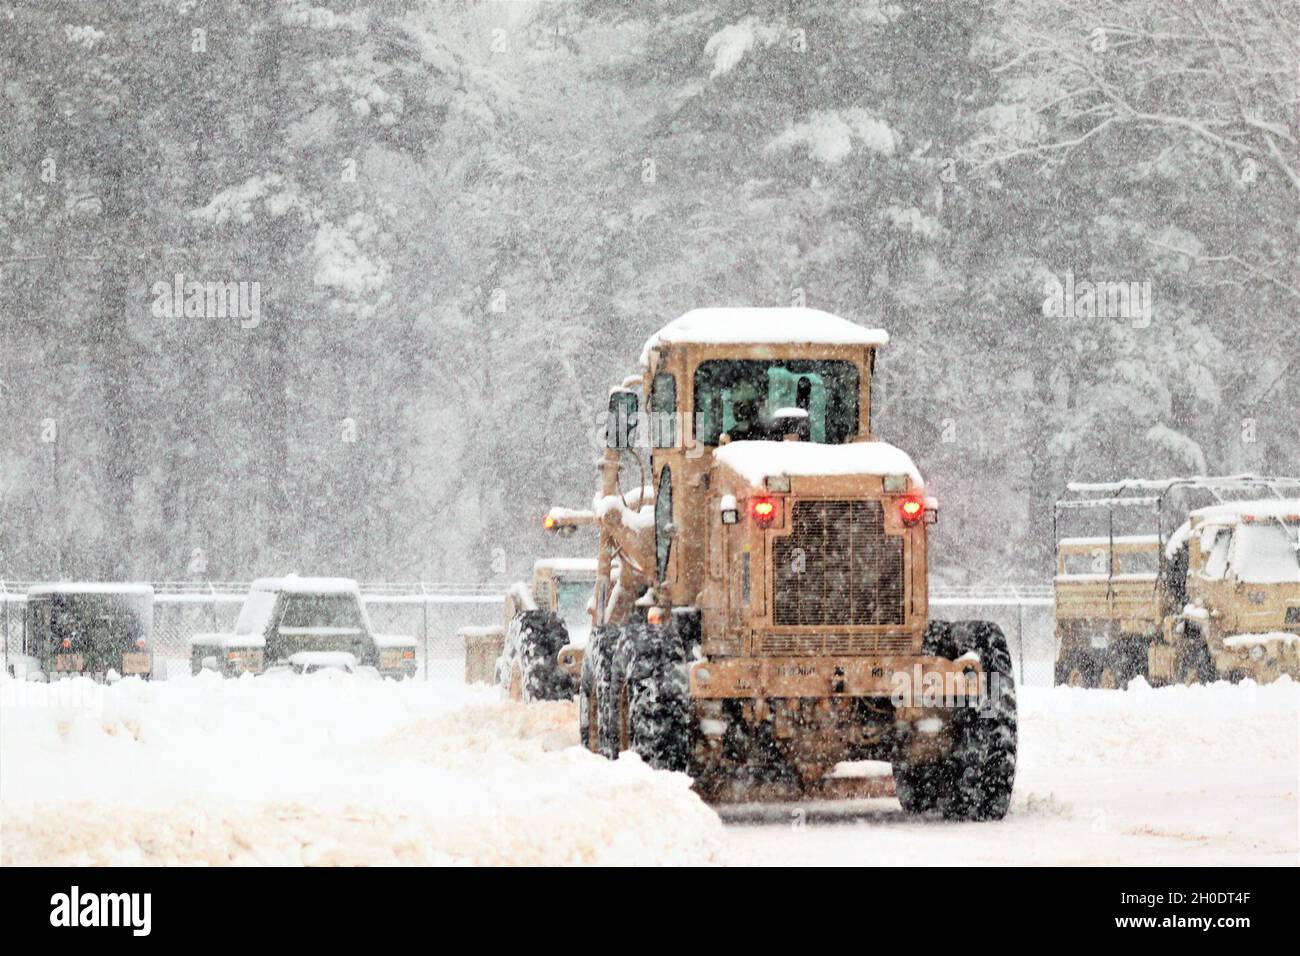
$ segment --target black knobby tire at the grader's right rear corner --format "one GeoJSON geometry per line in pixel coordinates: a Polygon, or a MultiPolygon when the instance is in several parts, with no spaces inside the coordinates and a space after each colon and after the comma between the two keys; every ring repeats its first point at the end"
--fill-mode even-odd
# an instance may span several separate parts
{"type": "Polygon", "coordinates": [[[907,813],[939,810],[949,819],[1002,819],[1015,784],[1015,675],[1006,637],[985,620],[940,623],[927,631],[926,653],[957,659],[974,653],[987,676],[980,706],[953,714],[953,750],[937,761],[894,767],[907,813]]]}

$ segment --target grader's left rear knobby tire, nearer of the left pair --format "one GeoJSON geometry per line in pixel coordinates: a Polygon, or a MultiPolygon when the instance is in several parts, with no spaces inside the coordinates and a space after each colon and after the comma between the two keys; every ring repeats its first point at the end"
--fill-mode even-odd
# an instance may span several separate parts
{"type": "Polygon", "coordinates": [[[628,749],[658,770],[685,771],[689,680],[676,628],[629,624],[615,658],[623,682],[620,730],[625,732],[628,749]]]}

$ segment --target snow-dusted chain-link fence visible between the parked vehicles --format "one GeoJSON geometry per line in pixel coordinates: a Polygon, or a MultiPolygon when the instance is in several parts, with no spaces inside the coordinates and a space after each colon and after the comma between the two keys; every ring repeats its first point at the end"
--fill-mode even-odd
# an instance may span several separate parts
{"type": "MultiPolygon", "coordinates": [[[[0,583],[0,636],[5,659],[22,652],[26,584],[0,583]]],[[[159,676],[188,674],[190,639],[234,630],[247,585],[160,583],[155,585],[153,653],[159,676]]],[[[499,624],[504,587],[490,584],[365,584],[361,600],[380,633],[415,637],[419,676],[463,680],[462,627],[499,624]]],[[[992,620],[1006,635],[1017,682],[1050,687],[1056,633],[1049,587],[935,588],[931,615],[937,620],[992,620]]]]}

